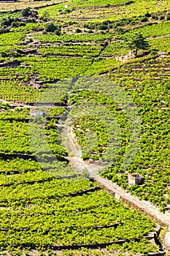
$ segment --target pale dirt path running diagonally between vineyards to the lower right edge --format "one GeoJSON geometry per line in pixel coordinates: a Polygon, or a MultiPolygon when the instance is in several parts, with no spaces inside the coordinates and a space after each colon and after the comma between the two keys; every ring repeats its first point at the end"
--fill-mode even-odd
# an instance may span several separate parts
{"type": "Polygon", "coordinates": [[[100,184],[101,187],[104,187],[111,195],[115,196],[117,200],[122,200],[125,203],[134,206],[138,210],[144,212],[149,215],[155,221],[161,222],[163,225],[167,225],[169,230],[163,237],[163,246],[164,248],[170,252],[170,214],[169,212],[165,212],[164,214],[159,212],[159,208],[152,205],[152,203],[139,200],[135,195],[130,195],[128,191],[117,186],[117,184],[112,183],[112,181],[107,180],[106,178],[101,178],[98,176],[99,170],[103,168],[100,165],[90,164],[88,162],[84,162],[81,159],[82,152],[80,150],[80,146],[78,146],[77,141],[74,139],[74,135],[72,134],[71,127],[65,127],[64,129],[64,138],[66,139],[67,146],[69,146],[70,151],[72,151],[72,157],[67,157],[69,159],[72,167],[76,168],[79,172],[83,169],[88,170],[91,178],[94,178],[100,184]]]}

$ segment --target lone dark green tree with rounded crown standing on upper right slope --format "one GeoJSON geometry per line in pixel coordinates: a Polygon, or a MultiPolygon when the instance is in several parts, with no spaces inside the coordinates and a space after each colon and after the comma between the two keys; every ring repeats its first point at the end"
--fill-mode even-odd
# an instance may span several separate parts
{"type": "Polygon", "coordinates": [[[132,34],[129,39],[126,40],[128,48],[134,50],[134,55],[137,56],[138,50],[147,50],[150,45],[142,36],[142,34],[132,34]]]}

